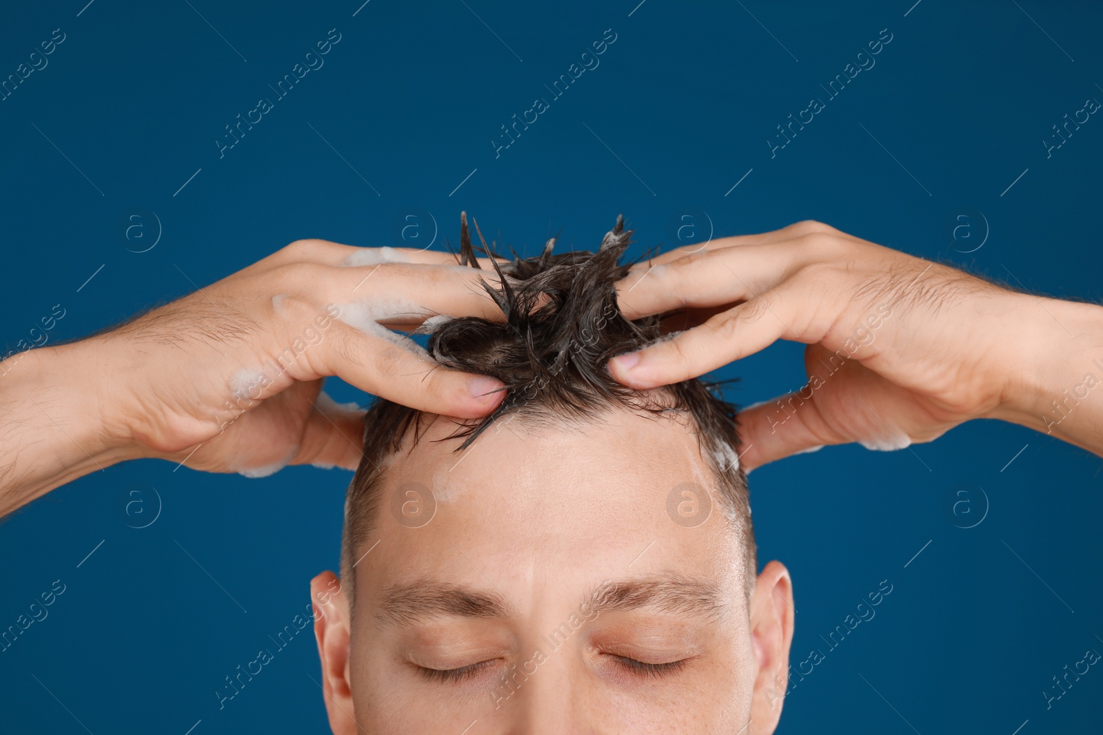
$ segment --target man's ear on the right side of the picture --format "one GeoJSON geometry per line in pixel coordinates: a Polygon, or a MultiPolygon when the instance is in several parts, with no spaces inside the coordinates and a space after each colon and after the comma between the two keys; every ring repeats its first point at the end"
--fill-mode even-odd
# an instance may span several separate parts
{"type": "Polygon", "coordinates": [[[789,685],[789,647],[793,642],[793,581],[781,562],[762,570],[751,595],[751,644],[754,648],[752,735],[770,735],[781,717],[789,685]]]}

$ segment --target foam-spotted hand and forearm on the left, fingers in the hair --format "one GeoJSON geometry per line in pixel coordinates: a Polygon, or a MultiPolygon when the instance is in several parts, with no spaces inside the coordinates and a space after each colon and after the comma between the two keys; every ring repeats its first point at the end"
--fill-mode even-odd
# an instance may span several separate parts
{"type": "Polygon", "coordinates": [[[354,469],[363,411],[322,396],[326,376],[422,410],[488,413],[502,400],[497,380],[332,318],[358,311],[411,329],[439,313],[493,317],[479,271],[454,263],[445,252],[298,240],[129,324],[0,363],[0,516],[140,457],[207,472],[354,469]],[[343,264],[350,257],[375,264],[343,264]]]}

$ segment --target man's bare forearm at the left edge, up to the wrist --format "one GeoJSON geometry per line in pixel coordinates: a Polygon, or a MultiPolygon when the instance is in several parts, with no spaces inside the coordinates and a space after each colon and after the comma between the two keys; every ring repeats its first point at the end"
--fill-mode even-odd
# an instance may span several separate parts
{"type": "Polygon", "coordinates": [[[128,458],[104,421],[89,353],[74,343],[0,363],[0,517],[128,458]]]}

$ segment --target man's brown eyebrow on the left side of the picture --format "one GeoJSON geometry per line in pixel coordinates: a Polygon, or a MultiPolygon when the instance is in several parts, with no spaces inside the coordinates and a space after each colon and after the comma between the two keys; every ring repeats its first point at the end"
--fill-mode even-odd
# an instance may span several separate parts
{"type": "Polygon", "coordinates": [[[510,616],[510,603],[497,594],[458,584],[418,580],[389,587],[379,601],[375,617],[387,625],[409,625],[442,615],[501,618],[510,616]]]}

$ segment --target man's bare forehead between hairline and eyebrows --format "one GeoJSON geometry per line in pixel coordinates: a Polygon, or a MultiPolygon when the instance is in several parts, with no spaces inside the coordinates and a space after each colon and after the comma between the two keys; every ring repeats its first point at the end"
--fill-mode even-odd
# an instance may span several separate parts
{"type": "Polygon", "coordinates": [[[432,441],[454,429],[438,420],[393,461],[375,533],[354,555],[372,549],[362,577],[378,586],[442,571],[532,588],[663,566],[731,581],[740,552],[724,515],[714,507],[690,523],[678,515],[686,487],[706,505],[718,497],[684,422],[631,411],[579,426],[507,419],[460,453],[457,440],[432,441]]]}

